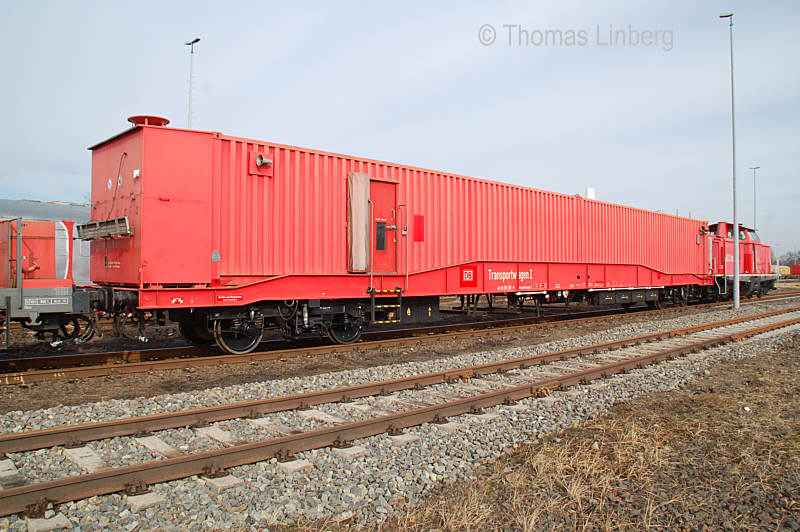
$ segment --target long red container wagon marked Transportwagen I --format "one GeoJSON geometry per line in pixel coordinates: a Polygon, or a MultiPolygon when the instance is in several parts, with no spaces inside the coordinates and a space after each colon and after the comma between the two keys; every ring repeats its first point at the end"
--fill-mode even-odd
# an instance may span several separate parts
{"type": "Polygon", "coordinates": [[[441,295],[657,305],[714,285],[705,221],[129,120],[90,148],[92,280],[195,343],[353,341],[437,319],[441,295]]]}

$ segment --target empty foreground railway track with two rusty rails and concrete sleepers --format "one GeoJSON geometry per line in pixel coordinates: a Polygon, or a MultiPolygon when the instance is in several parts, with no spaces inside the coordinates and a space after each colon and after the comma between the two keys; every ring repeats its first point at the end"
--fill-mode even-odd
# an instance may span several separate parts
{"type": "MultiPolygon", "coordinates": [[[[498,360],[370,382],[344,388],[320,390],[285,397],[213,408],[116,419],[72,427],[0,436],[0,451],[22,453],[60,445],[83,445],[112,437],[132,437],[162,459],[103,468],[95,472],[26,483],[20,472],[0,477],[0,515],[27,511],[40,514],[49,504],[124,491],[141,493],[148,485],[192,475],[221,477],[227,469],[271,458],[293,459],[295,453],[325,447],[351,449],[357,440],[382,433],[401,437],[404,429],[425,423],[453,428],[450,418],[481,414],[485,408],[512,405],[515,401],[549,395],[555,390],[586,384],[614,374],[642,368],[681,355],[702,351],[728,342],[800,324],[800,307],[701,326],[621,339],[566,351],[498,360]],[[359,399],[372,400],[359,402],[359,399]],[[311,407],[328,405],[326,411],[311,407]],[[275,422],[271,414],[291,412],[302,430],[275,422]],[[242,442],[241,436],[204,427],[221,420],[247,419],[267,437],[242,442]],[[313,420],[315,424],[300,423],[313,420]],[[198,437],[205,435],[223,447],[184,454],[158,440],[156,431],[195,426],[198,437]],[[143,436],[143,434],[148,434],[143,436]]],[[[495,415],[495,414],[492,414],[495,415]]],[[[457,425],[457,424],[456,424],[457,425]]],[[[456,429],[457,430],[457,429],[456,429]]],[[[84,446],[83,456],[93,451],[84,446]]],[[[81,455],[81,452],[73,453],[81,455]]],[[[96,456],[96,455],[95,455],[96,456]]]]}

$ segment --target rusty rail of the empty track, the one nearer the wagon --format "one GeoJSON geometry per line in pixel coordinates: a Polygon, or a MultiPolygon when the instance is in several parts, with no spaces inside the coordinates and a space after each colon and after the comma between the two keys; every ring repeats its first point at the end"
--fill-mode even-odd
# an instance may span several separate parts
{"type": "Polygon", "coordinates": [[[130,436],[134,434],[144,434],[177,427],[197,426],[205,423],[214,423],[235,418],[253,418],[269,413],[298,408],[308,408],[325,403],[348,402],[361,397],[409,390],[421,386],[431,386],[434,384],[452,382],[458,379],[464,380],[482,375],[488,375],[491,373],[508,371],[511,369],[525,369],[537,364],[541,365],[557,360],[566,360],[578,356],[611,351],[623,347],[663,340],[666,338],[686,336],[688,334],[701,331],[770,318],[780,314],[787,314],[796,311],[800,311],[800,307],[771,311],[755,316],[746,316],[721,322],[696,325],[693,327],[686,327],[672,331],[663,331],[634,336],[621,340],[613,340],[610,342],[577,347],[573,349],[551,351],[549,353],[487,362],[474,366],[452,368],[444,371],[412,375],[397,379],[389,379],[300,394],[291,394],[283,397],[270,397],[268,399],[259,399],[206,408],[195,408],[178,412],[165,412],[150,416],[121,418],[109,421],[101,421],[98,423],[86,423],[82,425],[69,425],[37,431],[2,434],[0,435],[0,455],[12,452],[31,451],[34,449],[42,449],[57,445],[72,447],[89,441],[113,438],[116,436],[130,436]]]}

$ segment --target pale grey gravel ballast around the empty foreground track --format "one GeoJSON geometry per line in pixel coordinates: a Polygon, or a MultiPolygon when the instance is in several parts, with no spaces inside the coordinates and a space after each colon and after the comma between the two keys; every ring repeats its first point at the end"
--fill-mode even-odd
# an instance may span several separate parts
{"type": "MultiPolygon", "coordinates": [[[[737,315],[786,308],[794,306],[792,303],[749,306],[737,315]]],[[[111,400],[38,411],[14,411],[2,416],[0,431],[15,432],[131,415],[147,415],[396,378],[489,360],[568,349],[647,334],[665,328],[689,327],[733,316],[732,311],[713,311],[658,323],[624,325],[532,348],[495,349],[445,359],[249,383],[150,399],[111,400]]],[[[581,423],[619,401],[652,391],[674,389],[702,372],[709,364],[723,359],[752,356],[760,349],[774,347],[776,342],[786,335],[798,334],[800,327],[795,326],[654,368],[613,377],[603,383],[556,392],[549,398],[522,401],[521,405],[530,407],[527,411],[496,407],[488,412],[496,413],[498,417],[487,422],[478,422],[470,416],[461,416],[454,421],[463,423],[464,427],[452,434],[444,433],[435,425],[409,429],[407,432],[420,436],[420,440],[408,446],[394,447],[385,435],[367,438],[358,444],[365,446],[368,454],[356,459],[340,458],[328,449],[300,453],[298,458],[304,458],[313,464],[313,468],[308,472],[284,474],[278,469],[274,460],[233,468],[231,473],[244,482],[221,493],[211,491],[197,477],[157,485],[153,487],[153,491],[163,494],[169,503],[138,514],[132,514],[127,509],[124,498],[119,495],[93,497],[68,503],[62,505],[59,511],[74,525],[87,530],[104,527],[128,530],[137,527],[248,528],[292,522],[298,518],[344,519],[356,515],[361,519],[383,520],[398,508],[418,503],[442,481],[473,478],[473,468],[481,461],[493,459],[522,442],[581,423]]],[[[401,398],[406,397],[403,394],[398,395],[401,398]]],[[[413,393],[406,395],[411,398],[413,393]]],[[[364,399],[361,402],[376,408],[391,408],[391,405],[385,403],[385,399],[379,397],[364,399]]],[[[317,407],[318,410],[332,415],[339,415],[340,408],[338,405],[317,407]]],[[[358,418],[359,414],[353,413],[351,417],[358,418]]],[[[303,419],[294,412],[278,413],[272,418],[301,430],[322,426],[321,423],[303,419]]],[[[224,422],[218,426],[230,430],[240,438],[255,439],[267,436],[263,431],[254,429],[242,420],[224,422]]],[[[189,429],[174,429],[158,435],[183,452],[206,450],[221,445],[212,440],[198,438],[189,429]]],[[[91,447],[112,466],[157,458],[137,446],[130,438],[94,442],[91,447]]],[[[15,460],[21,473],[31,480],[56,478],[78,472],[76,466],[66,460],[63,451],[58,448],[15,454],[11,458],[15,460]]],[[[23,530],[25,527],[24,521],[16,516],[0,519],[0,526],[9,526],[14,530],[23,530]]]]}

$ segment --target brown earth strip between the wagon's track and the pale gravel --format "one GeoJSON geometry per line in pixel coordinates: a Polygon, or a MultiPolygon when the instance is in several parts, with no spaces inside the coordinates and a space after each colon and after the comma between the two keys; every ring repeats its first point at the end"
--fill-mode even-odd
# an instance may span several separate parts
{"type": "MultiPolygon", "coordinates": [[[[793,299],[800,304],[800,298],[793,299]]],[[[760,308],[765,301],[751,300],[743,304],[743,312],[760,308]]],[[[784,301],[791,304],[792,301],[784,301]]],[[[717,309],[689,307],[682,315],[705,315],[717,309]]],[[[489,351],[498,348],[530,348],[543,342],[566,340],[605,331],[613,327],[650,323],[657,325],[675,317],[667,312],[656,316],[646,313],[619,314],[607,319],[586,322],[558,322],[546,327],[530,327],[513,331],[494,330],[478,336],[426,341],[422,345],[398,343],[380,348],[359,346],[358,350],[286,360],[264,360],[249,364],[201,366],[189,369],[158,370],[130,375],[115,375],[78,380],[59,380],[32,386],[6,386],[0,390],[0,413],[18,410],[37,410],[56,405],[83,405],[109,399],[134,399],[164,394],[227,388],[268,380],[320,375],[366,367],[385,366],[398,361],[425,361],[446,358],[460,353],[489,351]]]]}

